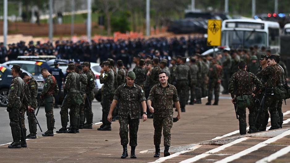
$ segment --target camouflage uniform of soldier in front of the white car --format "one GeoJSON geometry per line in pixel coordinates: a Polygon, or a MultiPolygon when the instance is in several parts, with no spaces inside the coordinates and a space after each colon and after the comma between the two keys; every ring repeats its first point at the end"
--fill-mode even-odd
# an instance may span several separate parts
{"type": "Polygon", "coordinates": [[[111,122],[108,121],[107,117],[109,115],[110,105],[112,103],[111,96],[114,91],[114,81],[115,81],[114,73],[111,70],[104,72],[103,75],[102,74],[100,75],[100,83],[104,84],[103,99],[102,99],[103,126],[105,125],[111,126],[111,122]]]}

